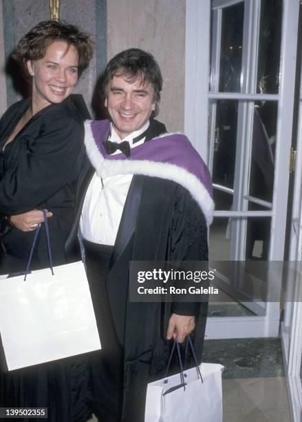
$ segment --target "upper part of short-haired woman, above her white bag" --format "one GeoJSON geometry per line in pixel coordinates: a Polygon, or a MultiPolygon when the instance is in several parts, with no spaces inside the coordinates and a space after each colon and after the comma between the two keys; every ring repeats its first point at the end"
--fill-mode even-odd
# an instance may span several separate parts
{"type": "MultiPolygon", "coordinates": [[[[32,211],[36,208],[53,212],[54,261],[65,262],[64,241],[83,156],[83,119],[69,94],[91,54],[87,34],[56,21],[39,23],[14,52],[32,81],[32,97],[11,106],[0,122],[2,274],[24,270],[34,228],[43,221],[41,211],[32,211]]],[[[45,245],[41,233],[32,268],[47,266],[45,245]]]]}

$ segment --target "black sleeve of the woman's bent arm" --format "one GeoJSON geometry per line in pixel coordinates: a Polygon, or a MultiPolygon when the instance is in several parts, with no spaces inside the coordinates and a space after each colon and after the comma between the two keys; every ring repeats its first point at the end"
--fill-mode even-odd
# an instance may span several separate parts
{"type": "Polygon", "coordinates": [[[0,214],[30,211],[74,181],[83,137],[83,124],[69,115],[43,123],[39,136],[0,180],[0,214]]]}

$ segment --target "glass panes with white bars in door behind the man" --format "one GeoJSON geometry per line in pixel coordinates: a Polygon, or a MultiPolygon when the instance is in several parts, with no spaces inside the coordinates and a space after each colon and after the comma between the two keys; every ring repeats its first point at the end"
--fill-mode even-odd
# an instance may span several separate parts
{"type": "MultiPolygon", "coordinates": [[[[212,2],[211,260],[270,259],[282,10],[282,0],[212,2]]],[[[235,285],[235,274],[222,277],[227,294],[235,285]]],[[[265,303],[246,299],[245,308],[265,314],[265,303]]]]}

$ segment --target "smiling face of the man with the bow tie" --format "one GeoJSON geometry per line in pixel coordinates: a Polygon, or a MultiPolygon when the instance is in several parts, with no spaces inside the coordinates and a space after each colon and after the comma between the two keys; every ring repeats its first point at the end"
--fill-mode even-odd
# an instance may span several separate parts
{"type": "Polygon", "coordinates": [[[105,107],[120,139],[139,130],[155,110],[154,90],[142,78],[129,80],[127,76],[114,76],[106,88],[105,107]]]}

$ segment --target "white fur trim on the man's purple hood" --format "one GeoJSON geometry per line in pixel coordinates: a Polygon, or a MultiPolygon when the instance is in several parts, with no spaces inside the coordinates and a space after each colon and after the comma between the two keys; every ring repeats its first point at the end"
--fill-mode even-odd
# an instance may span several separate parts
{"type": "MultiPolygon", "coordinates": [[[[169,133],[170,135],[171,133],[169,133]]],[[[163,134],[162,136],[167,136],[163,134]]],[[[159,137],[160,138],[160,137],[159,137]]],[[[116,174],[144,174],[144,176],[160,177],[179,183],[197,201],[204,212],[207,225],[213,221],[214,202],[204,185],[197,177],[175,164],[155,163],[150,160],[106,160],[100,154],[91,131],[91,120],[85,121],[85,147],[91,164],[96,169],[98,177],[114,176],[116,174]]]]}

